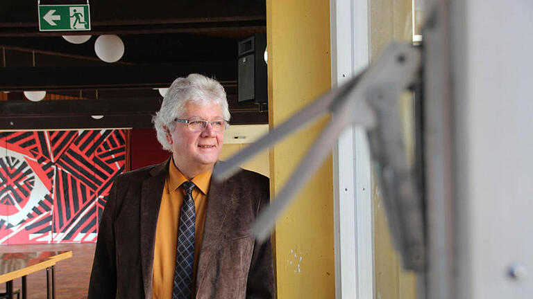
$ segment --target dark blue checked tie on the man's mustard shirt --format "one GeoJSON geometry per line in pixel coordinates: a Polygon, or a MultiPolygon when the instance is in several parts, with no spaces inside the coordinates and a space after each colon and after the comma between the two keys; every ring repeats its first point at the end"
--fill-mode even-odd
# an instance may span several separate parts
{"type": "Polygon", "coordinates": [[[176,270],[174,271],[174,291],[172,299],[190,299],[192,295],[192,271],[194,266],[194,223],[196,212],[192,190],[194,183],[185,181],[181,184],[185,190],[181,207],[178,245],[176,246],[176,270]]]}

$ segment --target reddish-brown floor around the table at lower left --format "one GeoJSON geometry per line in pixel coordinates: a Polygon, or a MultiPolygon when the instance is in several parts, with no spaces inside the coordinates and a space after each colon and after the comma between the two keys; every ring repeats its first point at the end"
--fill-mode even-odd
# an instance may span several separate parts
{"type": "MultiPolygon", "coordinates": [[[[0,252],[24,251],[72,251],[72,257],[56,264],[56,298],[85,299],[91,275],[92,260],[96,244],[39,244],[39,245],[2,245],[0,252]]],[[[15,289],[21,280],[15,280],[15,289]]],[[[28,299],[46,298],[46,270],[28,275],[28,299]]],[[[5,284],[0,286],[0,291],[5,284]]]]}

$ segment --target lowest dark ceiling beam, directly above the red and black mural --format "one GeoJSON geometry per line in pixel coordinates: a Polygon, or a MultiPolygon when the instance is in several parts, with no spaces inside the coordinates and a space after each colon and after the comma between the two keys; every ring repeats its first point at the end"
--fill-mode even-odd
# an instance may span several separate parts
{"type": "MultiPolygon", "coordinates": [[[[235,98],[235,96],[229,96],[235,98]]],[[[85,100],[27,100],[0,101],[0,130],[24,129],[82,129],[102,127],[133,127],[145,129],[162,98],[117,98],[85,100]],[[92,115],[104,115],[100,120],[92,115]]],[[[260,112],[252,105],[230,108],[232,125],[267,124],[267,111],[260,112]]]]}

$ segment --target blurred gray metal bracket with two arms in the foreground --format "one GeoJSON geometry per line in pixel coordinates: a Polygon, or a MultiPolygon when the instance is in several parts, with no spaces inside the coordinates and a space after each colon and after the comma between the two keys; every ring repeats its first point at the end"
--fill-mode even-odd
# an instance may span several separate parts
{"type": "Polygon", "coordinates": [[[416,185],[416,170],[407,162],[400,121],[398,98],[413,84],[421,66],[421,53],[410,44],[394,42],[366,70],[337,89],[321,96],[269,134],[217,163],[214,179],[221,181],[255,154],[278,143],[285,136],[303,129],[319,116],[331,114],[330,122],[309,149],[276,200],[262,212],[253,233],[259,241],[269,236],[276,219],[287,208],[305,182],[321,165],[348,125],[360,125],[369,136],[373,167],[377,174],[387,219],[396,249],[403,256],[405,269],[424,267],[423,206],[416,185]]]}

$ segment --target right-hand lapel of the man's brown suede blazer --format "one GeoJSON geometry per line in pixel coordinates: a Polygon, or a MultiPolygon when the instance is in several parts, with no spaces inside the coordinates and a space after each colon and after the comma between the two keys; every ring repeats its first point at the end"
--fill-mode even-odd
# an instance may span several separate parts
{"type": "Polygon", "coordinates": [[[230,207],[228,203],[230,203],[233,190],[231,188],[231,181],[231,179],[228,179],[227,181],[217,183],[214,179],[211,179],[200,259],[198,260],[198,268],[196,269],[196,296],[198,296],[198,290],[201,289],[205,274],[210,269],[210,264],[213,259],[213,251],[206,249],[219,246],[224,238],[221,229],[226,221],[226,215],[230,207]]]}

